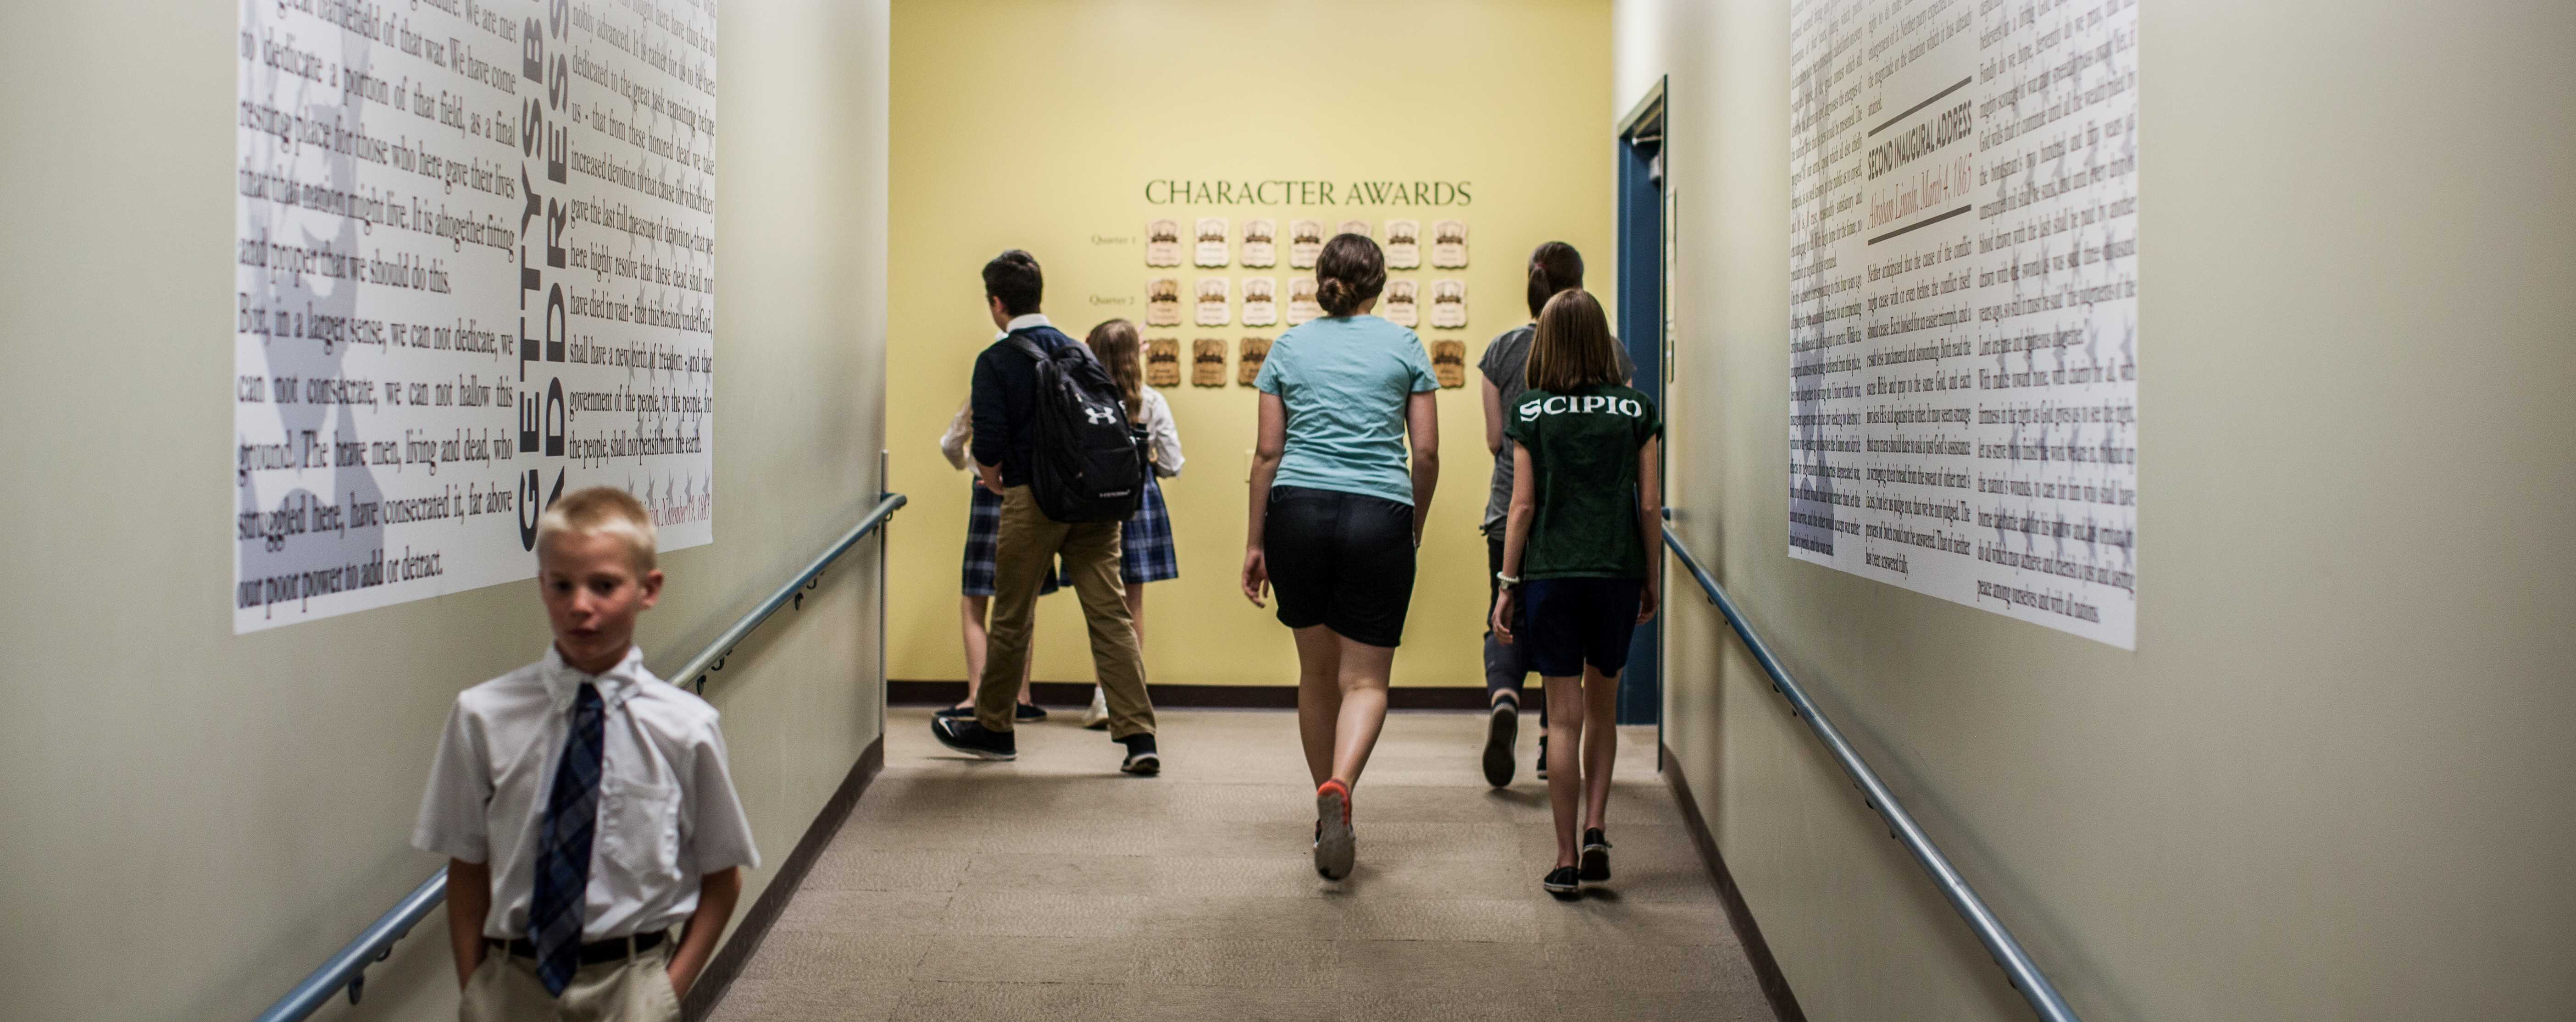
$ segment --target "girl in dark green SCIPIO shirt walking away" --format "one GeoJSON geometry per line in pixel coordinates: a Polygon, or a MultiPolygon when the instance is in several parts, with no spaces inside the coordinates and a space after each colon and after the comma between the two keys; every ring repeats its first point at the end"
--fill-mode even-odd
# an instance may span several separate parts
{"type": "Polygon", "coordinates": [[[1625,386],[1610,319],[1587,291],[1548,299],[1530,348],[1528,391],[1512,404],[1512,512],[1502,541],[1494,633],[1522,649],[1548,685],[1548,803],[1556,868],[1540,880],[1571,896],[1610,880],[1610,765],[1618,759],[1618,677],[1628,636],[1662,592],[1664,432],[1654,399],[1625,386]],[[1520,623],[1515,626],[1515,608],[1520,623]],[[1582,844],[1574,839],[1582,798],[1582,844]]]}

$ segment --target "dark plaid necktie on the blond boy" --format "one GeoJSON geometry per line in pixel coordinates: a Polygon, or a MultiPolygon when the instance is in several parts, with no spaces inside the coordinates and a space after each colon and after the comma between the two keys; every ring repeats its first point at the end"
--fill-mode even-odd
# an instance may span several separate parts
{"type": "Polygon", "coordinates": [[[582,682],[572,698],[572,734],[564,759],[554,767],[546,819],[536,832],[536,898],[528,906],[528,940],[536,945],[536,981],[546,994],[564,996],[572,973],[582,968],[582,896],[590,891],[590,839],[600,821],[600,690],[582,682]]]}

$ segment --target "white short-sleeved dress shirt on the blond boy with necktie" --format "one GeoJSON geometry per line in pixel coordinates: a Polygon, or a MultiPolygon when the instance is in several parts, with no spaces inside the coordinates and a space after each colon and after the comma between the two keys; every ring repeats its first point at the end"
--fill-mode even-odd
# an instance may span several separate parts
{"type": "Polygon", "coordinates": [[[546,659],[456,695],[412,829],[422,852],[492,865],[484,937],[528,937],[546,795],[582,682],[605,713],[582,940],[670,929],[698,909],[701,875],[760,865],[716,708],[652,677],[641,649],[592,677],[546,646],[546,659]]]}

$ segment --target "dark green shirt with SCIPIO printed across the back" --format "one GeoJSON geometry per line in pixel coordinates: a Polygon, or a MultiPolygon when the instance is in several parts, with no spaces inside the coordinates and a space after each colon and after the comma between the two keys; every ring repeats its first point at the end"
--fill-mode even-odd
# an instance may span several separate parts
{"type": "Polygon", "coordinates": [[[1502,432],[1530,451],[1538,515],[1522,579],[1643,579],[1636,453],[1664,432],[1654,399],[1628,386],[1522,391],[1502,432]]]}

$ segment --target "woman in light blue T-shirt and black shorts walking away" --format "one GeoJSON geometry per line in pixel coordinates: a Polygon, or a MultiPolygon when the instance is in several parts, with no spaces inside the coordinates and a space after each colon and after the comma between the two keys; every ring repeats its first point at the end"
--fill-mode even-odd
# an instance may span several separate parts
{"type": "Polygon", "coordinates": [[[1340,880],[1358,855],[1350,790],[1386,726],[1414,548],[1440,481],[1440,381],[1412,330],[1368,314],[1386,286],[1378,242],[1340,234],[1314,273],[1324,317],[1280,335],[1255,378],[1244,597],[1257,608],[1278,590],[1278,618],[1296,631],[1314,870],[1340,880]]]}

